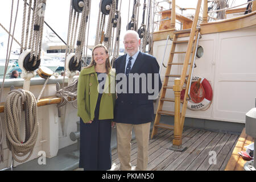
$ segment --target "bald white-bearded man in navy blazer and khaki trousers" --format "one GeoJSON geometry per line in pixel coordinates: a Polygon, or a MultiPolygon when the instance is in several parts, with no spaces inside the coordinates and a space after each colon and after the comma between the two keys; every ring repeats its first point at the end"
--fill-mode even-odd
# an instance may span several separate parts
{"type": "Polygon", "coordinates": [[[127,31],[123,43],[125,44],[127,54],[115,60],[118,98],[115,101],[114,121],[117,125],[118,158],[121,164],[121,170],[131,170],[130,141],[131,131],[134,129],[138,146],[136,170],[146,170],[150,123],[154,121],[153,101],[158,96],[162,87],[159,76],[159,65],[155,57],[139,51],[141,40],[137,32],[132,30],[127,31]],[[122,84],[120,86],[123,80],[121,78],[120,80],[118,79],[120,75],[124,74],[127,78],[127,85],[122,84]],[[136,75],[141,76],[139,82],[138,79],[136,81],[136,78],[134,78],[136,75]],[[146,80],[143,80],[143,77],[146,77],[146,80]],[[130,82],[134,80],[135,82],[130,82]],[[150,82],[151,84],[148,84],[150,82]],[[147,92],[143,92],[143,89],[145,89],[143,88],[144,85],[147,85],[147,92]],[[152,92],[150,93],[148,90],[150,88],[149,85],[154,87],[154,90],[157,92],[154,93],[155,98],[150,98],[152,92]],[[127,90],[124,89],[126,86],[127,90]],[[135,92],[137,86],[139,86],[139,93],[135,92]]]}

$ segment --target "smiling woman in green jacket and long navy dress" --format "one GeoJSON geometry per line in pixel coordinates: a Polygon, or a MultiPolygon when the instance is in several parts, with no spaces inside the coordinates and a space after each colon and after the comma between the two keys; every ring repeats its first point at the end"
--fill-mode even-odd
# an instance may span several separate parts
{"type": "Polygon", "coordinates": [[[84,170],[108,170],[112,166],[111,128],[114,118],[114,73],[108,49],[93,48],[92,62],[82,69],[77,86],[80,117],[80,161],[84,170]]]}

